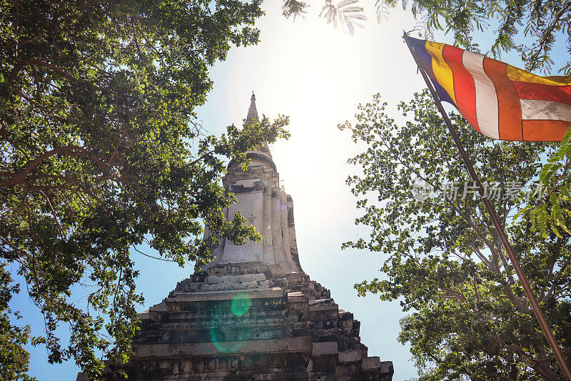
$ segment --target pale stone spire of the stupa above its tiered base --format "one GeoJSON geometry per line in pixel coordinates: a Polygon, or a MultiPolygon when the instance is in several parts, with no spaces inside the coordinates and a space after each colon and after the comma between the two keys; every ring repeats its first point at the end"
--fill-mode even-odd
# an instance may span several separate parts
{"type": "MultiPolygon", "coordinates": [[[[256,96],[252,91],[246,123],[253,120],[259,119],[256,96]]],[[[246,171],[232,160],[223,178],[224,187],[235,194],[237,201],[225,210],[225,217],[232,219],[233,214],[241,212],[261,232],[263,239],[259,242],[246,241],[244,244],[221,239],[218,246],[211,247],[215,259],[202,270],[260,263],[274,274],[303,273],[295,239],[293,200],[280,188],[278,170],[268,142],[264,141],[255,150],[246,152],[246,157],[250,159],[246,171]]]]}

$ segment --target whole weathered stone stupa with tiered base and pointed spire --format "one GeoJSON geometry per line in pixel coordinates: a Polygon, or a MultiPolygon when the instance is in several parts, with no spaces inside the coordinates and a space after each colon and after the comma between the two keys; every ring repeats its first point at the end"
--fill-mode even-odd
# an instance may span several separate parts
{"type": "Polygon", "coordinates": [[[128,380],[392,380],[392,362],[368,355],[360,322],[303,272],[293,200],[268,144],[247,157],[245,171],[228,164],[223,185],[238,202],[225,214],[239,210],[263,239],[221,239],[211,263],[139,314],[128,380]]]}

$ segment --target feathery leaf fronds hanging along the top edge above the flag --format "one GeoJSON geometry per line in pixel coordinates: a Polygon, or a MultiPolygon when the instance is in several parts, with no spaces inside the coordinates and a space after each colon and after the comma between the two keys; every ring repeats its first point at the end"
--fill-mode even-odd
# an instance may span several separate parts
{"type": "MultiPolygon", "coordinates": [[[[284,0],[283,14],[287,17],[306,13],[312,3],[284,0]]],[[[366,19],[360,0],[319,0],[323,4],[322,16],[328,24],[338,22],[353,33],[359,21],[366,19]]],[[[368,4],[373,5],[373,0],[368,4]]],[[[409,1],[375,0],[374,8],[379,22],[388,19],[390,9],[398,4],[408,8],[409,1]]],[[[419,19],[418,29],[429,39],[433,31],[451,31],[455,44],[467,49],[478,49],[474,36],[482,31],[494,36],[490,52],[500,58],[503,52],[516,49],[525,62],[527,70],[552,69],[552,50],[556,44],[565,44],[571,52],[571,1],[532,0],[413,0],[410,11],[419,19]],[[516,34],[523,41],[517,44],[516,34]]],[[[571,59],[564,66],[556,67],[571,74],[571,59]]]]}

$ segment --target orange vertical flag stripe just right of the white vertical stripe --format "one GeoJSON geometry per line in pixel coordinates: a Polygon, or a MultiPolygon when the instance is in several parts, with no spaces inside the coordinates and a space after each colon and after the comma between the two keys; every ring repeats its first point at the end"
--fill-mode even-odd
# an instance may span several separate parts
{"type": "Polygon", "coordinates": [[[490,77],[497,93],[497,124],[500,139],[523,140],[522,108],[515,86],[507,78],[503,62],[484,58],[484,71],[490,77]]]}

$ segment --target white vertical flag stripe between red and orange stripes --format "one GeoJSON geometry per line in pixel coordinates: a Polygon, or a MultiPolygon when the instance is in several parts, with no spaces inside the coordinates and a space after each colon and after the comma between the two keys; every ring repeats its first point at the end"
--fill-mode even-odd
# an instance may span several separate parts
{"type": "Polygon", "coordinates": [[[497,126],[497,94],[494,83],[484,71],[484,56],[465,50],[462,63],[474,78],[477,127],[482,134],[500,139],[497,126]]]}

